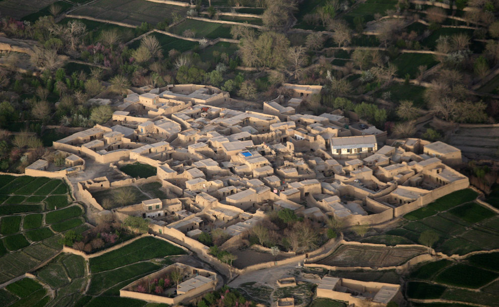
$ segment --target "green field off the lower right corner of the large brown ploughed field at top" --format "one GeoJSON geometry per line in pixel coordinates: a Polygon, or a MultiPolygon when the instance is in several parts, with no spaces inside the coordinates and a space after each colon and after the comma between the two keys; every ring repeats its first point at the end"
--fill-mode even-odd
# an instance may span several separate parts
{"type": "Polygon", "coordinates": [[[186,19],[182,23],[170,28],[169,31],[171,33],[175,33],[177,35],[182,35],[185,30],[194,30],[195,37],[197,38],[208,38],[215,39],[218,37],[223,38],[232,38],[230,35],[231,25],[225,25],[215,22],[207,22],[201,20],[194,19],[186,19]]]}

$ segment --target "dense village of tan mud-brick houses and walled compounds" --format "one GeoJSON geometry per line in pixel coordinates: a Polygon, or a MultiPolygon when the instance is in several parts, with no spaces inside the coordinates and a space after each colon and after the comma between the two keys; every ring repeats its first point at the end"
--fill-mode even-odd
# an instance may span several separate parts
{"type": "MultiPolygon", "coordinates": [[[[89,211],[121,221],[145,219],[149,233],[194,252],[229,279],[277,265],[271,255],[279,256],[279,265],[315,267],[339,245],[335,233],[318,250],[297,243],[281,251],[277,244],[265,247],[259,237],[259,252],[241,252],[270,212],[283,211],[326,228],[330,221],[344,228],[371,227],[469,187],[468,178],[452,168],[462,163],[459,149],[440,141],[389,140],[386,132],[341,110],[299,114],[300,103],[321,88],[285,86],[293,97],[265,102],[261,112],[223,107],[229,94],[210,86],[169,85],[130,93],[115,103],[108,123],[53,143],[51,155],[63,157],[64,167],[56,167],[53,158],[39,159],[25,173],[67,176],[89,211]],[[139,175],[127,174],[130,166],[139,175]],[[78,179],[82,175],[85,180],[78,179]],[[116,197],[123,189],[137,193],[116,197]],[[269,257],[259,260],[266,252],[269,257]],[[246,258],[253,256],[256,260],[246,258]]],[[[171,266],[127,285],[120,295],[175,304],[222,282],[215,272],[172,266],[191,272],[177,283],[173,296],[137,288],[141,280],[158,279],[171,266]]],[[[296,286],[294,278],[284,279],[277,281],[279,287],[296,286]]],[[[329,276],[316,283],[317,297],[359,306],[402,299],[398,284],[329,276]]],[[[295,302],[290,296],[276,304],[295,302]]]]}

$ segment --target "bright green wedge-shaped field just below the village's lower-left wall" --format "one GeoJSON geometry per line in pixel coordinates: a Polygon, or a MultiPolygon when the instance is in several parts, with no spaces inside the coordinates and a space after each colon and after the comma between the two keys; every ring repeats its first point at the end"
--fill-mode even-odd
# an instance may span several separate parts
{"type": "Polygon", "coordinates": [[[148,236],[102,256],[91,258],[90,270],[92,273],[98,273],[142,260],[182,254],[185,254],[182,249],[148,236]]]}

